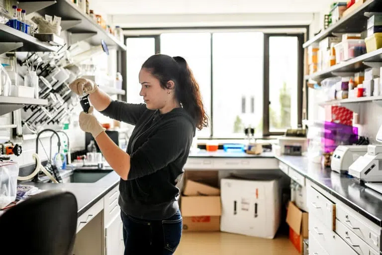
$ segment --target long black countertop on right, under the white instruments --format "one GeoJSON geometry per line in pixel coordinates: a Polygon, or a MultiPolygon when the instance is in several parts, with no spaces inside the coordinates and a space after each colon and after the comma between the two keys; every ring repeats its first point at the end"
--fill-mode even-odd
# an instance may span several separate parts
{"type": "Polygon", "coordinates": [[[359,214],[382,227],[382,194],[366,187],[350,175],[333,172],[302,156],[276,156],[307,179],[339,199],[359,214]]]}

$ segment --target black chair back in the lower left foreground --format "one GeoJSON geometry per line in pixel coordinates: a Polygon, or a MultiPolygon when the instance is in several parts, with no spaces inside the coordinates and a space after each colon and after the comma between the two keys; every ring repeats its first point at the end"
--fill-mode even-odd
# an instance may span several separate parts
{"type": "Polygon", "coordinates": [[[0,216],[1,250],[11,249],[4,255],[69,255],[76,229],[75,196],[66,191],[44,191],[0,216]]]}

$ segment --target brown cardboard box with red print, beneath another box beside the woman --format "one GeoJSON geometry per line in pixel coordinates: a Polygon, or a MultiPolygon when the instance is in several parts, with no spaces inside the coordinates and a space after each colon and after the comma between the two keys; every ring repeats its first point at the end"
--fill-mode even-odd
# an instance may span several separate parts
{"type": "Polygon", "coordinates": [[[182,196],[184,231],[219,231],[220,196],[182,196]]]}

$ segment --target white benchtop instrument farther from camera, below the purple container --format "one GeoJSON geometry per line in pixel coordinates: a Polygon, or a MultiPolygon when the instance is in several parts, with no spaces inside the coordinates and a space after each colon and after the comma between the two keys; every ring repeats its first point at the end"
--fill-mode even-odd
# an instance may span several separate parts
{"type": "Polygon", "coordinates": [[[337,173],[345,173],[358,157],[366,154],[368,145],[339,145],[333,152],[330,167],[337,173]]]}

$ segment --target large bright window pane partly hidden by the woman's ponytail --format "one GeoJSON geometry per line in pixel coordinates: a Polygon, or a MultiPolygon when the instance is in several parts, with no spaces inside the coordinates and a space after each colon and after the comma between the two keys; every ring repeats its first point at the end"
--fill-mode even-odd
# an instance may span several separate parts
{"type": "MultiPolygon", "coordinates": [[[[181,56],[188,62],[200,87],[204,110],[211,113],[211,35],[210,33],[161,34],[161,53],[181,56]]],[[[209,137],[210,127],[196,131],[197,137],[209,137]]]]}

